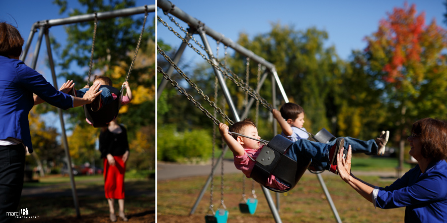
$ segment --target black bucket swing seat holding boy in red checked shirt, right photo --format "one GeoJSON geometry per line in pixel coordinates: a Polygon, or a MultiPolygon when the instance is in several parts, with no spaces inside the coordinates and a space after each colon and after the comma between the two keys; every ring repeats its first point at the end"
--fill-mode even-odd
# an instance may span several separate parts
{"type": "Polygon", "coordinates": [[[310,165],[310,161],[305,164],[298,164],[296,161],[285,155],[293,142],[282,135],[276,135],[265,145],[258,157],[256,164],[251,171],[250,177],[261,185],[266,185],[267,178],[273,174],[280,181],[290,185],[288,190],[277,190],[266,187],[275,192],[287,192],[294,188],[302,174],[310,165]]]}

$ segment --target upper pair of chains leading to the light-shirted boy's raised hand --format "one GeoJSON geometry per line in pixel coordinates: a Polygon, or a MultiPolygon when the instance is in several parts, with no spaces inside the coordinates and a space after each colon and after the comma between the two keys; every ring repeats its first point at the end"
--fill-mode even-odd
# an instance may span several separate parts
{"type": "MultiPolygon", "coordinates": [[[[204,54],[202,54],[197,48],[195,48],[191,43],[189,43],[186,39],[184,39],[183,37],[180,36],[180,34],[178,34],[175,30],[173,30],[172,27],[170,27],[166,22],[164,22],[158,15],[157,15],[157,19],[158,21],[160,21],[165,27],[168,28],[168,30],[170,30],[171,32],[173,32],[178,38],[180,38],[184,43],[186,43],[188,45],[188,47],[190,47],[191,49],[193,49],[197,54],[199,54],[200,56],[202,56],[203,59],[205,59],[208,63],[210,63],[213,67],[215,67],[216,69],[218,69],[219,71],[222,72],[222,74],[227,77],[228,79],[230,79],[232,82],[234,82],[236,84],[236,86],[242,88],[244,91],[248,92],[248,94],[253,97],[256,101],[260,101],[261,105],[264,106],[266,109],[268,109],[269,111],[273,111],[273,106],[270,105],[264,98],[262,98],[258,93],[256,93],[256,91],[254,91],[252,88],[250,88],[246,83],[244,83],[236,74],[234,74],[229,68],[227,68],[219,59],[215,58],[213,55],[211,55],[211,57],[213,57],[220,66],[224,67],[224,69],[227,71],[225,72],[219,65],[215,64],[213,62],[213,60],[207,58],[207,56],[205,56],[204,54]],[[231,74],[228,75],[228,73],[231,74]]],[[[178,23],[176,23],[178,24],[178,23]]],[[[184,29],[183,29],[184,30],[184,29]]],[[[190,35],[187,31],[184,31],[187,35],[190,35]]],[[[194,39],[191,35],[190,37],[192,39],[194,39]]],[[[200,45],[198,42],[196,42],[199,46],[201,46],[201,48],[208,53],[208,51],[202,46],[200,45]]]]}

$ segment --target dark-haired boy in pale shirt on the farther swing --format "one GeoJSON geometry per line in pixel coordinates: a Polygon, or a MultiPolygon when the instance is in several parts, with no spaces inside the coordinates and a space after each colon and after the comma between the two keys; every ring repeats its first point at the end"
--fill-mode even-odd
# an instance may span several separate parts
{"type": "MultiPolygon", "coordinates": [[[[302,109],[301,106],[295,103],[286,103],[281,106],[280,111],[274,109],[272,113],[273,117],[281,126],[282,136],[294,142],[299,139],[308,138],[307,133],[300,130],[305,130],[305,128],[303,128],[304,109],[302,109]]],[[[345,141],[345,148],[348,148],[348,146],[351,145],[353,148],[352,153],[365,153],[367,155],[383,155],[388,138],[389,131],[382,131],[379,137],[368,141],[363,141],[352,137],[343,137],[345,141]]],[[[335,139],[329,141],[327,144],[334,145],[335,139]]],[[[318,163],[313,162],[310,164],[309,168],[312,170],[321,170],[321,166],[319,166],[318,163]]]]}

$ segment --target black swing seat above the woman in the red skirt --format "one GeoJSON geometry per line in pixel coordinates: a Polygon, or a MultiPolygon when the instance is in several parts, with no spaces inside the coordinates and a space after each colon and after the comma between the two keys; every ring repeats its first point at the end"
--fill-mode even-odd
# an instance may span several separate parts
{"type": "Polygon", "coordinates": [[[83,105],[85,117],[95,128],[107,127],[108,123],[116,118],[121,106],[120,90],[108,85],[101,85],[101,88],[103,87],[109,89],[111,93],[114,93],[117,96],[112,103],[102,105],[102,108],[98,111],[92,111],[90,104],[83,105]]]}

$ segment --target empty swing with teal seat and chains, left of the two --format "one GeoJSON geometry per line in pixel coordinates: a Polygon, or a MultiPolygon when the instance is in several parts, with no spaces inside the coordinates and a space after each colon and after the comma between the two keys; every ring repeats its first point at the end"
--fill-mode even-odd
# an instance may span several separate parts
{"type": "MultiPolygon", "coordinates": [[[[218,79],[215,78],[215,88],[214,88],[214,98],[217,103],[218,99],[218,79]]],[[[214,116],[217,116],[217,111],[214,111],[214,116]]],[[[224,147],[224,142],[222,142],[224,147]]],[[[211,167],[214,167],[214,160],[215,160],[215,148],[216,148],[216,127],[213,127],[213,150],[212,150],[212,157],[211,157],[211,167]]],[[[222,154],[221,156],[224,156],[222,154]]],[[[210,208],[209,211],[211,211],[213,214],[207,214],[205,216],[205,222],[206,223],[226,223],[228,220],[228,211],[226,210],[226,206],[224,204],[224,159],[221,160],[221,205],[219,206],[217,212],[214,212],[213,209],[213,189],[214,189],[214,177],[213,177],[213,171],[211,171],[211,190],[210,190],[210,208]],[[222,209],[221,209],[222,207],[222,209]]]]}

